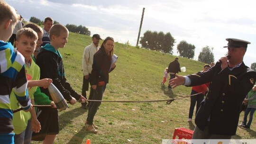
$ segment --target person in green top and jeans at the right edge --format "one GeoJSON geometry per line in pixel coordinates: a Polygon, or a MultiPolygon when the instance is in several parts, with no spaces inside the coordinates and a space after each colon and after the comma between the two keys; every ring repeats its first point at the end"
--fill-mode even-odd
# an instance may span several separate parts
{"type": "Polygon", "coordinates": [[[248,94],[247,94],[246,98],[244,99],[243,103],[247,103],[248,106],[245,110],[244,120],[243,120],[242,124],[240,124],[239,126],[242,126],[244,128],[250,128],[251,123],[252,123],[252,119],[253,119],[253,114],[256,110],[256,85],[254,85],[252,90],[250,90],[248,92],[248,94]],[[249,121],[247,123],[247,116],[248,116],[249,113],[250,113],[250,117],[249,117],[249,121]]]}

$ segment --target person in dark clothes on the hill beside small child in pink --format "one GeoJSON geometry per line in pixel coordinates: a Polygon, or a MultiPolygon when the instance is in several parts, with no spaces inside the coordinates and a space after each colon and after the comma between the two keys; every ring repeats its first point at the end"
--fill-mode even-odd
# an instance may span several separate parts
{"type": "MultiPolygon", "coordinates": [[[[179,58],[176,57],[173,62],[171,62],[168,66],[168,72],[170,73],[170,80],[175,78],[175,74],[181,72],[179,58]]],[[[168,85],[168,88],[171,88],[170,85],[168,85]]]]}

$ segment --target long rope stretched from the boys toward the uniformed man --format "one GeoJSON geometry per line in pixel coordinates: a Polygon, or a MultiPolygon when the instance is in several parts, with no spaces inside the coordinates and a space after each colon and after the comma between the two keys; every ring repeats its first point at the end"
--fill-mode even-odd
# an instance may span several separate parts
{"type": "MultiPolygon", "coordinates": [[[[205,91],[203,91],[205,92],[205,91]]],[[[183,98],[187,98],[187,97],[191,97],[191,96],[195,96],[195,95],[198,95],[198,94],[201,94],[203,92],[200,92],[200,93],[196,93],[196,94],[193,94],[193,95],[189,95],[189,96],[184,96],[184,97],[181,97],[181,98],[176,98],[176,99],[183,99],[183,98]]],[[[123,101],[120,101],[120,100],[92,100],[92,99],[87,99],[86,101],[94,101],[94,102],[137,102],[137,103],[140,103],[140,102],[159,102],[159,101],[166,101],[166,104],[169,105],[171,104],[175,99],[160,99],[160,100],[136,100],[136,101],[132,101],[132,100],[123,100],[123,101]]],[[[77,101],[79,102],[79,101],[77,101]]],[[[69,102],[67,102],[69,103],[69,102]]],[[[52,107],[51,105],[33,105],[33,107],[52,107]]],[[[16,113],[20,110],[22,110],[23,108],[18,108],[18,109],[15,109],[15,110],[12,110],[12,113],[16,113]]]]}

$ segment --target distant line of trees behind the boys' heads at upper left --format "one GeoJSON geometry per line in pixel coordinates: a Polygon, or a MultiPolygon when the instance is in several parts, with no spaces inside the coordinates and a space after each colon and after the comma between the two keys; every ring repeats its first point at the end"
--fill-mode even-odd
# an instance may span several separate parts
{"type": "MultiPolygon", "coordinates": [[[[31,17],[29,19],[29,21],[32,22],[32,23],[35,23],[39,26],[44,24],[43,20],[40,20],[39,18],[36,18],[36,17],[31,17]]],[[[59,22],[54,20],[54,24],[59,24],[59,22]]],[[[86,28],[82,25],[76,26],[76,25],[73,25],[73,24],[66,24],[65,27],[67,27],[67,29],[70,32],[78,33],[78,34],[82,34],[82,35],[86,35],[86,36],[91,36],[91,31],[89,31],[88,28],[86,28]]]]}

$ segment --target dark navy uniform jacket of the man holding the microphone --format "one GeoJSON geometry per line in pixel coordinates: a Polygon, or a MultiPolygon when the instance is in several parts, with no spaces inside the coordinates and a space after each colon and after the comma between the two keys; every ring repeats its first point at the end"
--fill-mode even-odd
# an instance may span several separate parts
{"type": "Polygon", "coordinates": [[[229,68],[221,71],[220,64],[216,64],[207,72],[188,77],[190,86],[210,82],[209,92],[195,117],[196,126],[203,130],[209,125],[210,134],[235,135],[242,101],[254,85],[256,72],[244,63],[232,71],[229,68]]]}

